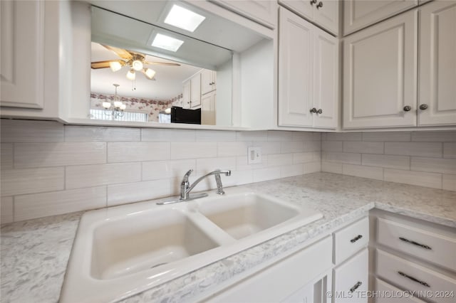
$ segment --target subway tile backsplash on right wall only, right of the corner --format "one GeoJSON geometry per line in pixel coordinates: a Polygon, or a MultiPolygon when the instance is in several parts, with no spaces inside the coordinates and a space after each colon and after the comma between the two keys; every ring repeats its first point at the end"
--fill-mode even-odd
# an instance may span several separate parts
{"type": "Polygon", "coordinates": [[[456,191],[456,132],[322,134],[321,171],[456,191]]]}

